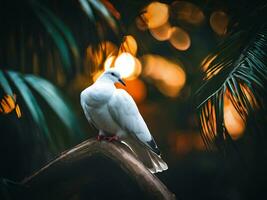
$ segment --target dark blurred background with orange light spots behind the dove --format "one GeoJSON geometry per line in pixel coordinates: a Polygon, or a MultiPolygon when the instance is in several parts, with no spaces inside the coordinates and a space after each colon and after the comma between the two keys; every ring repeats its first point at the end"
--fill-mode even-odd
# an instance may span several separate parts
{"type": "Polygon", "coordinates": [[[117,87],[134,98],[169,165],[157,176],[177,199],[264,195],[264,143],[250,142],[246,120],[225,101],[231,144],[208,150],[195,96],[219,72],[208,71],[209,56],[232,33],[263,26],[264,8],[261,1],[1,1],[0,177],[20,181],[96,137],[80,92],[115,67],[127,85],[117,87]]]}

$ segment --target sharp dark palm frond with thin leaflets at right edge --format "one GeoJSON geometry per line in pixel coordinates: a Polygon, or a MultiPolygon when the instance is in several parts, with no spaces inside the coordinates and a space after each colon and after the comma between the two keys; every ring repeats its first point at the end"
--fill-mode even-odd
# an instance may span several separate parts
{"type": "Polygon", "coordinates": [[[223,147],[229,138],[224,120],[226,102],[233,105],[247,127],[251,119],[254,126],[264,126],[256,119],[258,110],[267,113],[263,102],[267,81],[266,36],[266,25],[255,32],[234,33],[204,63],[209,67],[197,98],[201,131],[207,146],[223,147]]]}

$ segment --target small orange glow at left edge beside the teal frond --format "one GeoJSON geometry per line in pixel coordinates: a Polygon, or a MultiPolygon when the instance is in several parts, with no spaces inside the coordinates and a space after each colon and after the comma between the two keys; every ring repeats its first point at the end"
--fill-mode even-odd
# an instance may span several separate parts
{"type": "Polygon", "coordinates": [[[16,95],[14,97],[10,95],[4,96],[3,99],[0,101],[1,107],[0,107],[0,113],[8,114],[11,113],[13,110],[16,111],[17,117],[21,117],[21,111],[18,104],[16,104],[16,95]]]}

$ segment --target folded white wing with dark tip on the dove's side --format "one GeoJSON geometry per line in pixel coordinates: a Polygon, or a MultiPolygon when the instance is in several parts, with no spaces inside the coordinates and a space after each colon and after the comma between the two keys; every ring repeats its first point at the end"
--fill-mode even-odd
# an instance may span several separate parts
{"type": "Polygon", "coordinates": [[[122,89],[117,89],[108,103],[113,120],[126,132],[133,134],[140,142],[160,155],[145,121],[140,115],[132,97],[122,89]]]}

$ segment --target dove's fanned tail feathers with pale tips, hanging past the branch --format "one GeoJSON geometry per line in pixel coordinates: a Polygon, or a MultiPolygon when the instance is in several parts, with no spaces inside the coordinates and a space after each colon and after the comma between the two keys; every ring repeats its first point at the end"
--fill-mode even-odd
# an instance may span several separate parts
{"type": "Polygon", "coordinates": [[[157,155],[140,142],[127,138],[122,140],[121,143],[126,145],[151,173],[158,173],[168,169],[168,165],[160,155],[157,155]]]}

